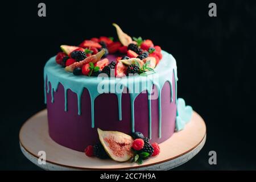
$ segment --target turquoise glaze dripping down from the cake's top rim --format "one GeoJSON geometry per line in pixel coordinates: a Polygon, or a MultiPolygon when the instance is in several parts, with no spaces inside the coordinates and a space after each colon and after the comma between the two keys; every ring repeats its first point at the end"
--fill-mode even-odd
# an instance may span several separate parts
{"type": "Polygon", "coordinates": [[[68,111],[68,96],[67,91],[70,89],[72,92],[77,94],[77,109],[78,114],[81,113],[81,96],[84,88],[86,88],[90,95],[91,101],[91,114],[92,114],[92,128],[94,128],[94,101],[102,93],[114,93],[117,96],[118,100],[118,118],[119,121],[122,121],[122,92],[115,93],[117,85],[120,85],[120,90],[123,91],[123,88],[129,90],[130,99],[131,99],[131,130],[135,131],[135,121],[134,121],[134,102],[137,96],[146,91],[148,93],[148,134],[151,138],[151,91],[152,86],[155,85],[158,90],[158,110],[159,110],[159,138],[161,138],[162,130],[162,109],[161,109],[161,91],[163,85],[166,81],[170,84],[170,97],[172,102],[173,90],[172,85],[175,84],[175,102],[177,102],[177,67],[174,57],[162,51],[163,59],[159,62],[158,66],[155,68],[156,74],[148,76],[134,76],[134,77],[124,77],[124,78],[104,78],[104,77],[85,77],[85,76],[75,76],[72,73],[65,72],[65,70],[55,62],[55,57],[52,57],[47,61],[46,66],[44,67],[44,101],[46,102],[46,95],[49,93],[49,83],[51,83],[51,97],[52,102],[54,102],[54,92],[57,91],[59,83],[64,86],[65,94],[65,111],[68,111]],[[158,75],[158,79],[155,77],[158,75]],[[175,76],[175,83],[172,83],[172,76],[175,76]],[[46,82],[47,80],[47,82],[46,82]],[[146,83],[147,84],[144,84],[146,83]],[[110,89],[109,92],[98,92],[98,84],[108,85],[110,89]],[[134,92],[134,85],[139,84],[139,89],[134,92]],[[46,90],[47,85],[47,90],[46,90]]]}

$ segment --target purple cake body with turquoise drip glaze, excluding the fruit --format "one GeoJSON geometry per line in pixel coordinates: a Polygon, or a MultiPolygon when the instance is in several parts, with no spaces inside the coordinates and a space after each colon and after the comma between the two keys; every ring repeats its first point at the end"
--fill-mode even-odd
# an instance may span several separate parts
{"type": "Polygon", "coordinates": [[[122,78],[75,76],[55,57],[49,59],[44,67],[49,136],[77,151],[99,142],[97,128],[139,131],[157,143],[170,138],[175,132],[176,61],[170,53],[162,55],[154,74],[122,78]]]}

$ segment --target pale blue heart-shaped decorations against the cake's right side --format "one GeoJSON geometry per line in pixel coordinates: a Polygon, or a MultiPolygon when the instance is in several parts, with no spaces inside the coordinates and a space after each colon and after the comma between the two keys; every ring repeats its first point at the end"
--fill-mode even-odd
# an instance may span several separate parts
{"type": "Polygon", "coordinates": [[[191,106],[186,106],[183,98],[177,100],[177,117],[175,122],[175,130],[183,130],[185,124],[191,120],[193,109],[191,106]]]}

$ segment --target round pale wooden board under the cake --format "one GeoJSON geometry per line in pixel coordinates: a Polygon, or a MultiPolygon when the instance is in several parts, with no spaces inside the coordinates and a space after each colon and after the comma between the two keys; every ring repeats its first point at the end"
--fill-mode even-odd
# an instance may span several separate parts
{"type": "Polygon", "coordinates": [[[48,134],[47,110],[42,110],[24,123],[19,133],[23,154],[37,166],[47,170],[167,170],[187,162],[203,148],[206,140],[204,120],[193,112],[185,129],[160,143],[158,156],[137,163],[89,158],[54,142],[48,134]],[[38,163],[39,151],[46,152],[46,164],[38,163]]]}

